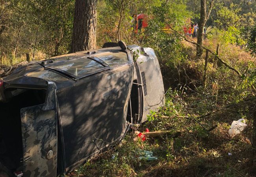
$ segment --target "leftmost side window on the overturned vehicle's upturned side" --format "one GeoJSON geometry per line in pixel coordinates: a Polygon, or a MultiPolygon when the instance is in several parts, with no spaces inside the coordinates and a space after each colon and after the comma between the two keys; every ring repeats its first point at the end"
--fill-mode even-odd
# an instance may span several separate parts
{"type": "Polygon", "coordinates": [[[62,76],[56,72],[49,71],[49,70],[38,70],[35,72],[30,72],[30,73],[26,74],[26,76],[38,77],[41,79],[49,79],[54,82],[63,82],[63,81],[69,80],[69,78],[62,76]]]}

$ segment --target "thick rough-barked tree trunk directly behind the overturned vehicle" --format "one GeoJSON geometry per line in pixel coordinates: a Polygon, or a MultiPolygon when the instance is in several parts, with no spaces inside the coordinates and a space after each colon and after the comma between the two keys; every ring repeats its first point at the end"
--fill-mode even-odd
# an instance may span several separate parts
{"type": "Polygon", "coordinates": [[[71,52],[96,47],[97,0],[76,0],[71,52]]]}

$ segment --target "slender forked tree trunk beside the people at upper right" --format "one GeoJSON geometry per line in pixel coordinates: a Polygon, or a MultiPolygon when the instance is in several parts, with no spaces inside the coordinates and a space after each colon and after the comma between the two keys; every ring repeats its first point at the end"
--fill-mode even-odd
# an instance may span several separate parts
{"type": "MultiPolygon", "coordinates": [[[[206,4],[207,0],[201,0],[201,8],[200,8],[200,20],[198,22],[198,31],[197,31],[197,43],[202,45],[204,39],[204,26],[206,21],[208,20],[211,9],[213,7],[214,0],[211,0],[210,7],[208,9],[208,13],[206,13],[206,4]]],[[[202,56],[203,49],[200,46],[197,46],[197,58],[202,56]]]]}

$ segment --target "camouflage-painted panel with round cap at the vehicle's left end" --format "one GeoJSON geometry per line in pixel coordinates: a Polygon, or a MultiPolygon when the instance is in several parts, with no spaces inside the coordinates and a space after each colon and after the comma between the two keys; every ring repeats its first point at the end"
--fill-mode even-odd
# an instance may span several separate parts
{"type": "Polygon", "coordinates": [[[46,102],[20,110],[24,177],[56,177],[56,85],[48,81],[46,102]]]}

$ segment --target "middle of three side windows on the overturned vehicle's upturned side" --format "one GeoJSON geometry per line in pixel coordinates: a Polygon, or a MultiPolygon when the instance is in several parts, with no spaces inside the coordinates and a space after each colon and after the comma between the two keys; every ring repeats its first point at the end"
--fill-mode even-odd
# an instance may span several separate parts
{"type": "Polygon", "coordinates": [[[74,76],[82,76],[84,74],[91,73],[96,69],[104,68],[105,66],[92,59],[84,57],[76,60],[66,61],[63,64],[53,64],[51,67],[63,70],[74,76]]]}

